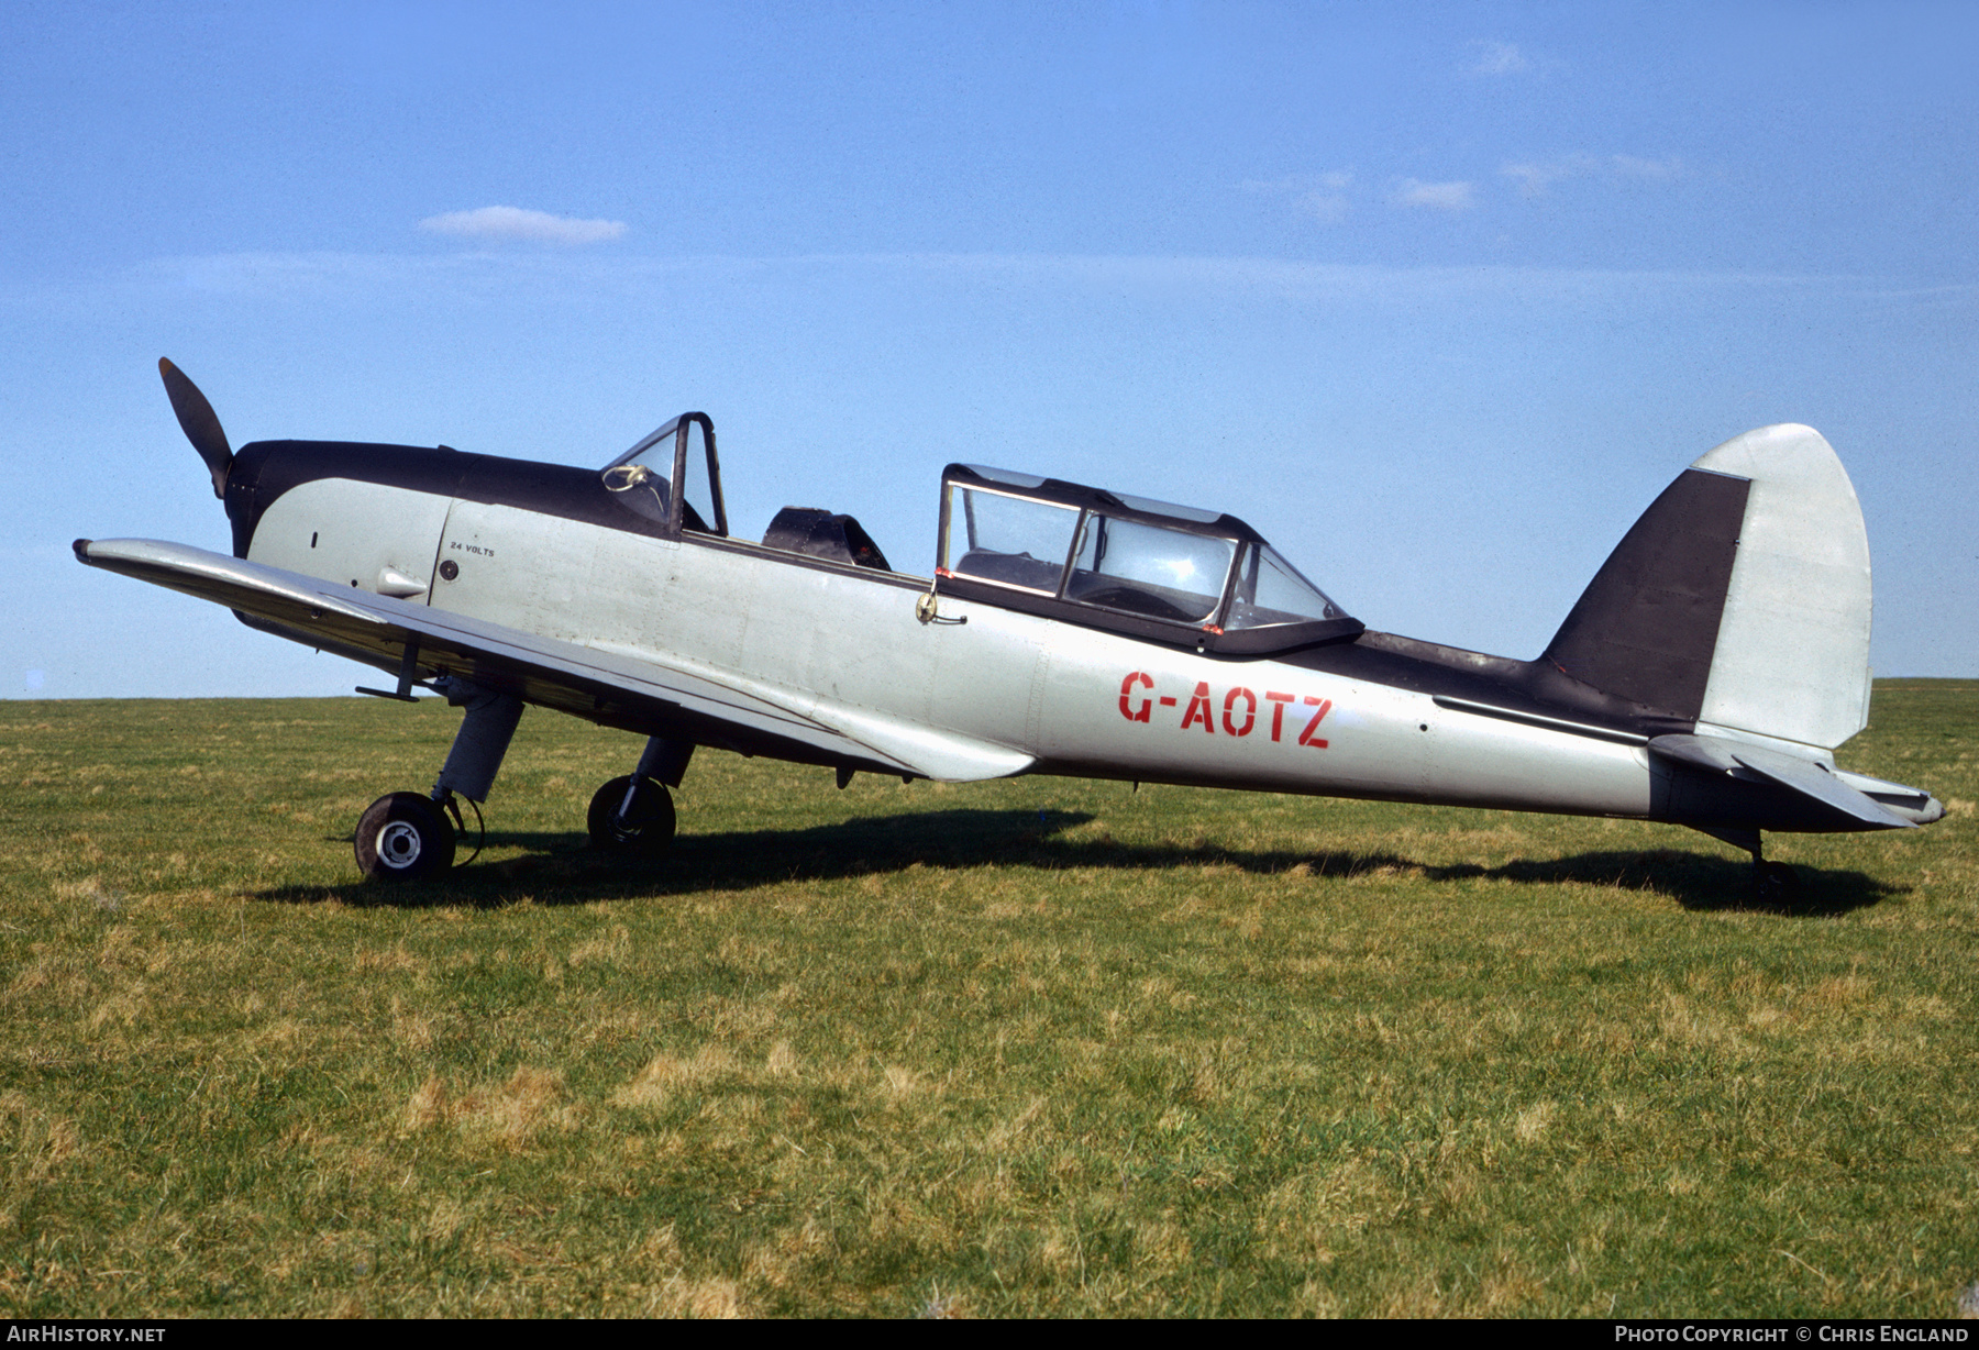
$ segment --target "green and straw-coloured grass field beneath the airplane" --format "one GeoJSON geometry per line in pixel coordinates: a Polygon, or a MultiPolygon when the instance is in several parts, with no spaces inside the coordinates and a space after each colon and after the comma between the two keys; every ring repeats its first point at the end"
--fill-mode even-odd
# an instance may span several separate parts
{"type": "Polygon", "coordinates": [[[701,754],[522,719],[356,883],[425,703],[0,705],[0,1314],[1947,1316],[1979,1279],[1979,681],[1704,835],[701,754]],[[465,853],[463,853],[465,855],[465,853]]]}

